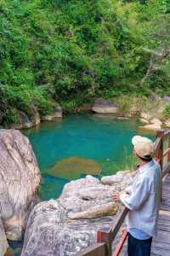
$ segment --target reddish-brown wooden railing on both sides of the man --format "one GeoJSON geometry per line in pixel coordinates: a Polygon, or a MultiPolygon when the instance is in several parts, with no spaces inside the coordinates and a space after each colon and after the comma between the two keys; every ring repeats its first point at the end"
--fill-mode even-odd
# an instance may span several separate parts
{"type": "MultiPolygon", "coordinates": [[[[156,142],[154,144],[155,149],[155,158],[161,166],[162,178],[170,172],[170,130],[168,131],[157,131],[156,133],[156,142]],[[164,142],[167,140],[167,148],[164,149],[164,142]],[[165,157],[167,161],[165,162],[165,157]]],[[[114,223],[111,224],[109,230],[99,230],[97,232],[97,245],[88,247],[81,253],[77,253],[76,256],[119,256],[121,253],[124,242],[127,239],[127,231],[122,232],[120,241],[118,242],[115,251],[112,253],[111,245],[112,241],[116,238],[117,233],[119,232],[122,224],[127,216],[128,209],[122,207],[121,212],[114,220],[114,223]]]]}

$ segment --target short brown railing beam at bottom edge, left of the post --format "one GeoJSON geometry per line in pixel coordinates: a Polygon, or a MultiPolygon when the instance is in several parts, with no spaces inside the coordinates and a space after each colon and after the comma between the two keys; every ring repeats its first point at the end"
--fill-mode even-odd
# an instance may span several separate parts
{"type": "Polygon", "coordinates": [[[80,253],[75,254],[75,256],[106,256],[106,244],[104,242],[97,245],[88,247],[80,253]]]}

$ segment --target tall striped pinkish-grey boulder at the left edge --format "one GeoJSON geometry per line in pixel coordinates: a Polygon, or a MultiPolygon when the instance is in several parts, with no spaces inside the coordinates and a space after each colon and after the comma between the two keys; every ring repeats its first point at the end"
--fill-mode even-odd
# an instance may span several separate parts
{"type": "Polygon", "coordinates": [[[37,201],[40,172],[27,137],[0,130],[0,216],[6,236],[20,240],[28,213],[37,201]]]}

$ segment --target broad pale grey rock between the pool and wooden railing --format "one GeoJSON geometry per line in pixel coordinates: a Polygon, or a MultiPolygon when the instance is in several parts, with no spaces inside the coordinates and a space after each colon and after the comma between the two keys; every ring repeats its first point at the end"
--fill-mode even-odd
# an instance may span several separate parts
{"type": "Polygon", "coordinates": [[[71,256],[94,245],[97,231],[109,228],[116,218],[108,216],[117,211],[112,195],[132,182],[133,173],[124,172],[123,176],[123,172],[119,172],[107,177],[107,184],[104,180],[105,177],[101,183],[98,178],[88,175],[71,181],[57,201],[44,201],[34,207],[21,255],[71,256]],[[105,217],[101,209],[106,211],[105,217]]]}

